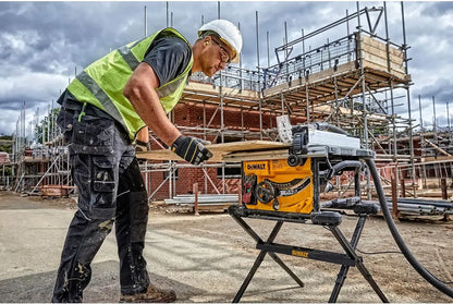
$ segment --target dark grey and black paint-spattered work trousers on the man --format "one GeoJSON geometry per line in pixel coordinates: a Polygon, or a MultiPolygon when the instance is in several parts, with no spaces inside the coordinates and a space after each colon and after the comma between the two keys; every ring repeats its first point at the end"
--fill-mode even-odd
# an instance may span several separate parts
{"type": "Polygon", "coordinates": [[[82,302],[90,264],[113,223],[121,293],[143,292],[149,285],[143,257],[148,202],[134,147],[115,121],[89,114],[89,107],[85,112],[61,108],[58,117],[69,143],[78,209],[68,230],[52,302],[82,302]]]}

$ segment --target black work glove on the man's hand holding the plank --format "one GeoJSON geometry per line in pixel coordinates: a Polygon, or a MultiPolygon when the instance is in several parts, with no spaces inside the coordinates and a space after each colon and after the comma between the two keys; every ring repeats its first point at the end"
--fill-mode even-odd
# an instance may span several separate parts
{"type": "Polygon", "coordinates": [[[171,150],[192,165],[199,165],[212,157],[212,154],[201,144],[201,139],[184,135],[174,141],[171,150]]]}

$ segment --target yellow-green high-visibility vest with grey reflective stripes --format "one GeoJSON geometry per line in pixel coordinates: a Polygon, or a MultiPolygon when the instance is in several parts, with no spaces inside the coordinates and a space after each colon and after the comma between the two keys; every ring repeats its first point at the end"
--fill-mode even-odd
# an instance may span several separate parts
{"type": "MultiPolygon", "coordinates": [[[[78,101],[98,107],[122,124],[127,130],[131,139],[134,139],[137,132],[146,124],[135,112],[127,98],[123,96],[123,89],[158,35],[159,37],[162,35],[180,37],[191,47],[177,31],[164,28],[142,40],[115,49],[95,61],[68,86],[68,89],[78,101]]],[[[191,61],[184,72],[156,89],[166,112],[170,112],[180,100],[193,63],[194,58],[191,54],[191,61]]]]}

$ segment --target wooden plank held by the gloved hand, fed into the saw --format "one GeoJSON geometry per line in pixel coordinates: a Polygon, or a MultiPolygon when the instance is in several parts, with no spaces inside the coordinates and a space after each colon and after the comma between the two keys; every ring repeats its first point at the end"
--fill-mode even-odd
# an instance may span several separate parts
{"type": "MultiPolygon", "coordinates": [[[[234,142],[225,144],[206,145],[206,147],[212,153],[212,158],[208,162],[222,162],[224,157],[232,153],[244,151],[271,151],[279,149],[287,149],[290,145],[280,142],[270,141],[247,141],[247,142],[234,142]]],[[[184,161],[177,155],[169,149],[150,150],[150,151],[137,151],[137,158],[147,160],[179,160],[184,161]]]]}

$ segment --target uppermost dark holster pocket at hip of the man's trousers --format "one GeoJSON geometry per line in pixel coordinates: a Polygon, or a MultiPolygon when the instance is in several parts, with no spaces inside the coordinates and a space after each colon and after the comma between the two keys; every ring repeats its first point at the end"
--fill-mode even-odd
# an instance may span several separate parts
{"type": "Polygon", "coordinates": [[[71,154],[108,155],[113,151],[114,121],[84,115],[75,120],[71,154]]]}

